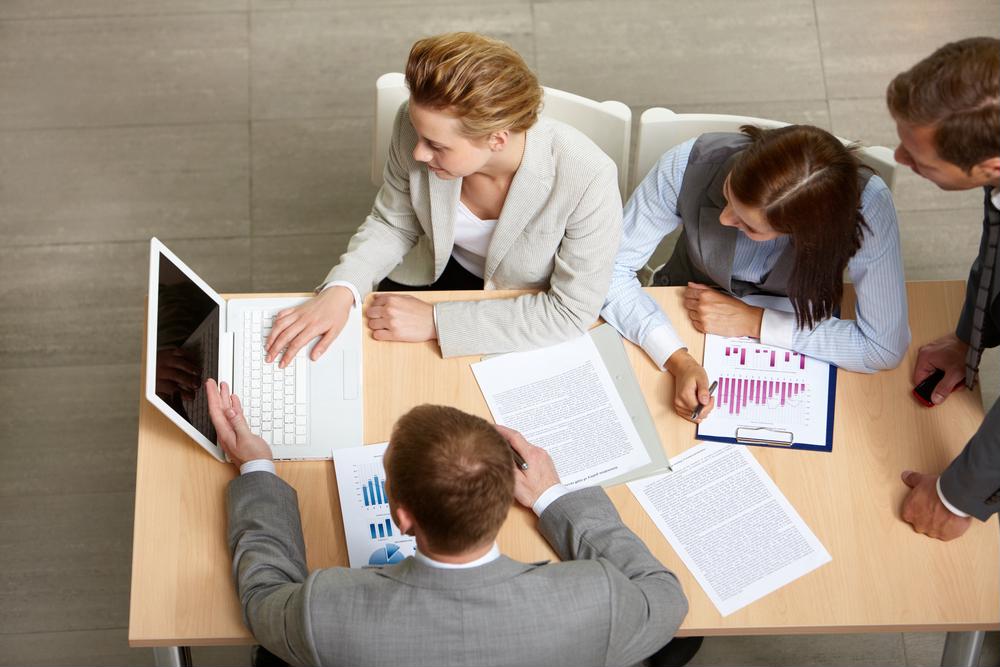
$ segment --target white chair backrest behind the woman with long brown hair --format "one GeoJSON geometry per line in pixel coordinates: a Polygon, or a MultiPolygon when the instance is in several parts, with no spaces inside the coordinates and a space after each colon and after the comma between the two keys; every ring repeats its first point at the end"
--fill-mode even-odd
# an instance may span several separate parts
{"type": "MultiPolygon", "coordinates": [[[[646,177],[660,156],[677,144],[684,143],[705,132],[738,132],[741,125],[763,128],[784,127],[788,123],[750,116],[728,116],[706,113],[674,113],[663,107],[646,109],[639,117],[639,140],[636,148],[635,168],[632,171],[631,192],[646,177]]],[[[838,137],[839,139],[840,137],[838,137]]],[[[850,143],[840,139],[844,144],[850,143]]],[[[859,157],[875,170],[889,190],[896,187],[896,161],[892,150],[884,146],[864,146],[859,157]]]]}

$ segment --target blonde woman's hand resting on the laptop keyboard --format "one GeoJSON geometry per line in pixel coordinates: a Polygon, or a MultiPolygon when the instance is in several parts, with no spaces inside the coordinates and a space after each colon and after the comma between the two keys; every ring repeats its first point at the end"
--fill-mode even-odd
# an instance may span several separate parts
{"type": "Polygon", "coordinates": [[[319,359],[344,328],[353,305],[351,290],[335,286],[323,290],[301,306],[279,312],[267,337],[267,363],[281,354],[279,366],[284,368],[292,363],[299,350],[317,337],[320,340],[309,358],[313,361],[319,359]]]}

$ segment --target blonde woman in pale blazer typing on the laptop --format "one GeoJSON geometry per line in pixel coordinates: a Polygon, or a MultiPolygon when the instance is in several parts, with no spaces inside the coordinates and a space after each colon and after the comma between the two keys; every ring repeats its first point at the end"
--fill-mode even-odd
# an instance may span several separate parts
{"type": "Polygon", "coordinates": [[[540,290],[436,306],[402,294],[372,300],[375,339],[437,340],[445,357],[544,346],[597,319],[621,232],[614,162],[539,117],[538,80],[503,42],[420,40],[406,83],[372,212],[317,296],[278,314],[269,362],[281,355],[287,365],[317,337],[310,356],[319,358],[380,282],[383,291],[540,290]]]}

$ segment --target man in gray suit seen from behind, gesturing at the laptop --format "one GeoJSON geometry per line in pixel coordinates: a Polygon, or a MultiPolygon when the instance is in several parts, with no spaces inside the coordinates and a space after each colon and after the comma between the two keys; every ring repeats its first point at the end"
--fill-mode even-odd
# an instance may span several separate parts
{"type": "Polygon", "coordinates": [[[247,627],[300,665],[631,665],[687,613],[677,578],[600,488],[568,491],[545,450],[454,408],[396,422],[386,493],[417,554],[378,569],[308,572],[295,491],[239,400],[209,381],[212,421],[240,476],[229,544],[247,627]],[[515,468],[510,448],[527,462],[515,468]],[[514,500],[563,563],[519,563],[496,535],[514,500]]]}

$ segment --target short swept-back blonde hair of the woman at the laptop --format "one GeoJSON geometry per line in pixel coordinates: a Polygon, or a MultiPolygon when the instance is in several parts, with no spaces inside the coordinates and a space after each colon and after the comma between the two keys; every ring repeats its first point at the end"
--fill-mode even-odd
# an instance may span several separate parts
{"type": "Polygon", "coordinates": [[[523,132],[538,120],[542,88],[510,45],[473,32],[422,39],[410,49],[406,85],[416,104],[454,114],[468,137],[523,132]]]}

